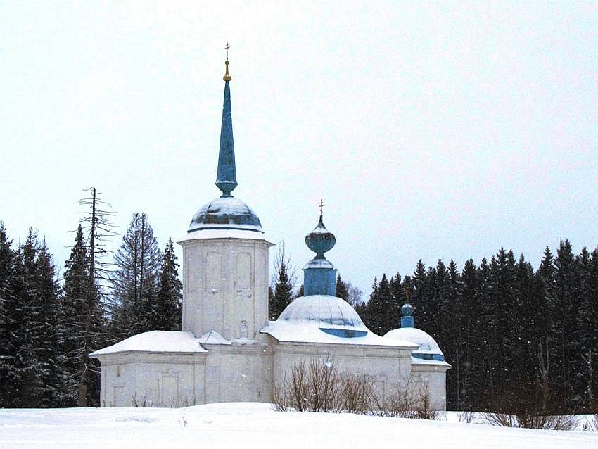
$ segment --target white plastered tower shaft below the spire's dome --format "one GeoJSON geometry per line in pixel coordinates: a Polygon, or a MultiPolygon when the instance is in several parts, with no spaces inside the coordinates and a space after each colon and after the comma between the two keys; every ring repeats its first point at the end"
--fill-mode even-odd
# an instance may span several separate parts
{"type": "Polygon", "coordinates": [[[268,241],[190,239],[183,246],[182,330],[255,339],[268,319],[268,241]]]}

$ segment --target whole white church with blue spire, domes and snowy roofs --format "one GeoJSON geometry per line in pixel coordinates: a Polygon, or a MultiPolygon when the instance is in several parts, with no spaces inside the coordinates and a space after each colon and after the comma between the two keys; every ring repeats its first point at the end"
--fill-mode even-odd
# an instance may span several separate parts
{"type": "Polygon", "coordinates": [[[339,372],[367,377],[382,394],[406,382],[425,386],[432,407],[444,410],[450,365],[432,337],[414,327],[412,306],[403,306],[400,329],[378,336],[335,296],[336,269],[324,253],[336,237],[322,215],[305,237],[315,256],[303,267],[304,296],[268,320],[273,244],[253,210],[231,194],[237,182],[228,58],[225,68],[216,177],[222,194],[193,215],[178,242],[182,331],[145,332],[91,353],[101,363],[101,405],[272,402],[293,367],[333,360],[339,372]]]}

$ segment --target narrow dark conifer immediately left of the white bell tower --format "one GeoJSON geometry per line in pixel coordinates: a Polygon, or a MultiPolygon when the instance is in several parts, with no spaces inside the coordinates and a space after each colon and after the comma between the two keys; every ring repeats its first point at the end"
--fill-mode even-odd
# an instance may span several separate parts
{"type": "Polygon", "coordinates": [[[179,279],[178,267],[172,239],[168,239],[160,265],[158,292],[155,301],[150,305],[150,329],[162,331],[181,329],[183,284],[179,279]]]}

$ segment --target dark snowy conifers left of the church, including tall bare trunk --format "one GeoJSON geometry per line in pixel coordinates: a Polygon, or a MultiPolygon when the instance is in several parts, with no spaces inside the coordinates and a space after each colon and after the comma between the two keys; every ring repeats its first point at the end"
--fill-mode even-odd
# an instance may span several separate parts
{"type": "Polygon", "coordinates": [[[134,213],[109,263],[113,213],[89,193],[62,282],[37,232],[15,246],[0,222],[0,407],[100,405],[89,353],[140,332],[180,330],[172,239],[160,251],[148,216],[134,213]]]}

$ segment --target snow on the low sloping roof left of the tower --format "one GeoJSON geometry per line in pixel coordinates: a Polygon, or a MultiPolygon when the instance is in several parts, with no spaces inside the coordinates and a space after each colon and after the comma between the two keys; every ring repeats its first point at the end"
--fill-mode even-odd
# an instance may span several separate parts
{"type": "Polygon", "coordinates": [[[207,353],[201,347],[199,339],[191,332],[181,331],[150,331],[137,334],[123,341],[96,350],[89,354],[91,357],[127,351],[143,351],[148,353],[207,353]]]}

